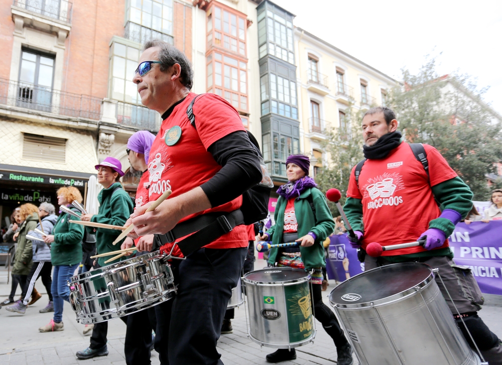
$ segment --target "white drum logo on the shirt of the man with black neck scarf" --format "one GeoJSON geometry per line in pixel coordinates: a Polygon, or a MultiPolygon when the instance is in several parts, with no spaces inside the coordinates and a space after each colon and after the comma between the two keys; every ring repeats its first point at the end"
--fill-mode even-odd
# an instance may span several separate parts
{"type": "Polygon", "coordinates": [[[403,197],[395,195],[403,190],[405,184],[401,174],[385,173],[375,178],[368,179],[368,183],[362,187],[364,190],[363,198],[370,198],[367,202],[368,209],[378,209],[382,206],[396,206],[403,203],[403,197]]]}

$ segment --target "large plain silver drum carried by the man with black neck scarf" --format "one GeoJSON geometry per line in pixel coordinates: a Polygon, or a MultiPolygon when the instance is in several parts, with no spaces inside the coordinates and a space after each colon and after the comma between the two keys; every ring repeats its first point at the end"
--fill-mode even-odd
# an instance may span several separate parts
{"type": "Polygon", "coordinates": [[[430,266],[387,265],[329,295],[361,365],[478,365],[430,266]]]}

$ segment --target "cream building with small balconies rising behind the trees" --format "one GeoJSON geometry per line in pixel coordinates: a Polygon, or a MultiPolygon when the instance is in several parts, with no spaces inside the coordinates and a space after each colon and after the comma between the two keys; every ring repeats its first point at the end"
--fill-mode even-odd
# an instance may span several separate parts
{"type": "MultiPolygon", "coordinates": [[[[340,127],[339,112],[349,114],[349,105],[355,111],[382,105],[382,90],[389,91],[398,81],[298,27],[295,28],[295,52],[301,150],[313,158],[313,169],[319,164],[319,157],[314,156],[319,154],[314,151],[322,152],[321,142],[327,139],[326,133],[340,127]],[[317,74],[311,71],[309,57],[317,61],[317,74]],[[338,85],[337,69],[343,72],[343,88],[338,85]],[[361,82],[367,84],[365,99],[361,95],[361,82]],[[314,125],[311,101],[319,104],[315,123],[318,126],[314,125]]],[[[322,153],[322,163],[329,163],[325,153],[322,153]]]]}

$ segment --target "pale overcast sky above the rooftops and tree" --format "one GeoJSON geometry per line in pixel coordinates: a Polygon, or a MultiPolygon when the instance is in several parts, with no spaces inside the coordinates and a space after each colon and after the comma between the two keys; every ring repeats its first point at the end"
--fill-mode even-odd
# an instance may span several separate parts
{"type": "Polygon", "coordinates": [[[272,0],[296,15],[294,24],[361,61],[401,80],[416,73],[426,55],[437,72],[466,73],[502,114],[502,1],[405,2],[272,0]]]}

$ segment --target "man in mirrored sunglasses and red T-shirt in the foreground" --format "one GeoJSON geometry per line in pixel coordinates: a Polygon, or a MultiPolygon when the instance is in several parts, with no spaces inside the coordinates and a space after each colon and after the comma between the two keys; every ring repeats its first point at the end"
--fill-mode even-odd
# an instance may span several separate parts
{"type": "Polygon", "coordinates": [[[214,94],[194,101],[192,77],[190,62],[175,47],[145,44],[133,81],[142,103],[163,119],[150,151],[148,200],[168,189],[172,194],[152,212],[146,212],[150,203],[137,208],[126,224],[134,223],[133,237],[158,234],[168,242],[164,252],[173,241],[182,251],[193,251],[186,249],[186,237],[201,236],[204,247],[179,261],[169,363],[221,364],[216,342],[248,246],[242,193],[261,181],[262,170],[238,112],[214,94]],[[191,105],[193,124],[187,114],[191,105]],[[212,233],[202,235],[206,227],[212,233]],[[208,236],[213,238],[204,242],[208,236]]]}

